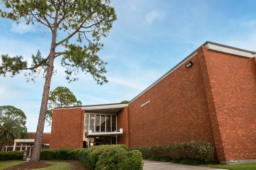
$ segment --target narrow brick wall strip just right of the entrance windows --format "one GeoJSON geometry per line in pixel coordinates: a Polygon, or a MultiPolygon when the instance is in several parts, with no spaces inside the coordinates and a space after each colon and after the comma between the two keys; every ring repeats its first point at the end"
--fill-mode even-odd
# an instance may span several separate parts
{"type": "Polygon", "coordinates": [[[117,144],[124,144],[129,147],[128,127],[128,107],[125,107],[117,113],[117,129],[123,128],[123,134],[117,135],[117,144]]]}

